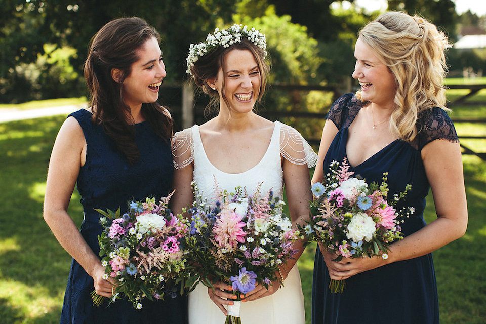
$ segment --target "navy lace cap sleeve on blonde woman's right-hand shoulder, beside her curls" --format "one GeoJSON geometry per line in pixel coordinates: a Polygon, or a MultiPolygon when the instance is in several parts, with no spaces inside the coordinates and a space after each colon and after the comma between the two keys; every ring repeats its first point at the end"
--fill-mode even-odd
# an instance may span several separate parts
{"type": "Polygon", "coordinates": [[[419,150],[428,143],[445,139],[457,143],[456,128],[446,111],[438,107],[424,111],[417,120],[417,147],[419,150]]]}

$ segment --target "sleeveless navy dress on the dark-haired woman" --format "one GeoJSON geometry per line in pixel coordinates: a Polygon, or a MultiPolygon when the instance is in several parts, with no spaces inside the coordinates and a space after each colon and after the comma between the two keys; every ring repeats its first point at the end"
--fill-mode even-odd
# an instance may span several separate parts
{"type": "MultiPolygon", "coordinates": [[[[80,169],[77,189],[84,209],[81,234],[96,255],[99,255],[98,234],[102,227],[102,210],[127,210],[131,199],[147,196],[167,196],[171,188],[173,167],[170,141],[157,136],[147,122],[135,125],[136,144],[140,160],[130,165],[103,131],[101,125],[91,122],[92,114],[81,109],[73,116],[83,129],[87,146],[86,163],[80,169]]],[[[144,300],[141,310],[136,310],[127,299],[117,300],[107,307],[104,302],[93,306],[90,293],[94,290],[93,279],[74,259],[64,295],[61,323],[186,323],[187,299],[185,296],[151,302],[144,300]]]]}

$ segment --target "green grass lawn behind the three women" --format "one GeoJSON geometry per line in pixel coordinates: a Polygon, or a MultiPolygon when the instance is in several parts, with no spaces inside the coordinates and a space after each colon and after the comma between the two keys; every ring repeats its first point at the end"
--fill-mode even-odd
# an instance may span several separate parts
{"type": "MultiPolygon", "coordinates": [[[[455,107],[452,116],[476,116],[476,109],[482,111],[478,117],[486,116],[485,107],[455,107]]],[[[50,152],[64,118],[0,124],[0,323],[59,322],[71,258],[44,222],[42,204],[50,152]]],[[[484,125],[456,127],[460,135],[486,135],[484,125]]],[[[483,140],[469,142],[468,147],[485,151],[483,140]]],[[[486,161],[470,155],[463,160],[468,230],[434,252],[443,324],[479,324],[486,318],[486,161]]],[[[69,209],[79,225],[82,208],[77,192],[69,209]]],[[[425,216],[427,221],[435,218],[431,195],[425,216]]],[[[308,247],[299,260],[308,323],[314,251],[308,247]]]]}

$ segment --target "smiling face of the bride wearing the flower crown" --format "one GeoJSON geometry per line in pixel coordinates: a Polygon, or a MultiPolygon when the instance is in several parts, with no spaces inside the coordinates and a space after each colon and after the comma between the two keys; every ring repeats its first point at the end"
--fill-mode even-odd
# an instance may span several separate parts
{"type": "Polygon", "coordinates": [[[237,49],[229,51],[224,60],[224,68],[219,69],[217,78],[209,84],[218,90],[221,109],[227,108],[237,113],[252,111],[261,85],[260,69],[252,52],[237,49]],[[224,91],[221,91],[223,79],[224,91]],[[223,93],[227,102],[223,99],[223,93]]]}

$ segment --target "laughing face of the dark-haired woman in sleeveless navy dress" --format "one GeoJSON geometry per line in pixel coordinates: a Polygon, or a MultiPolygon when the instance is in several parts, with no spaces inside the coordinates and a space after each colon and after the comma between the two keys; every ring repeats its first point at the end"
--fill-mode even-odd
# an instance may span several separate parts
{"type": "Polygon", "coordinates": [[[131,66],[131,72],[123,80],[121,94],[130,108],[158,99],[159,86],[167,75],[162,61],[162,51],[156,38],[149,38],[137,50],[138,60],[131,66]]]}

